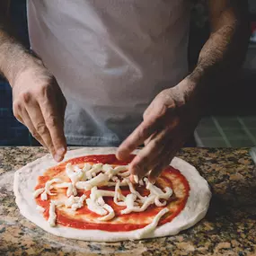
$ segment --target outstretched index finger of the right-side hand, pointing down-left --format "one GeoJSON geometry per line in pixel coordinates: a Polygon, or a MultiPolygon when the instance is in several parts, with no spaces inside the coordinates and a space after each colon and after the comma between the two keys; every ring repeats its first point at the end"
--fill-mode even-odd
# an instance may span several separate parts
{"type": "Polygon", "coordinates": [[[146,138],[150,137],[159,127],[157,121],[143,121],[133,133],[119,146],[117,158],[127,159],[128,155],[134,151],[137,146],[144,143],[146,138]]]}

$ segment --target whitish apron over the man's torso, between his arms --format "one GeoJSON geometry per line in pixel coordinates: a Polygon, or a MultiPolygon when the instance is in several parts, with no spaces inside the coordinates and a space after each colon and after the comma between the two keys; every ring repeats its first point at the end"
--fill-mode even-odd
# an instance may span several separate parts
{"type": "Polygon", "coordinates": [[[188,72],[188,0],[28,0],[31,48],[67,100],[67,143],[117,146],[188,72]]]}

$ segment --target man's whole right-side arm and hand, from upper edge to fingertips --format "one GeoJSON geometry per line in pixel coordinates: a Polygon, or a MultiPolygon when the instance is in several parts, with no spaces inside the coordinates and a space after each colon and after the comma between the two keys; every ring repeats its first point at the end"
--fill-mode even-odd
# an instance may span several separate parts
{"type": "Polygon", "coordinates": [[[146,146],[130,164],[131,174],[150,180],[162,172],[196,127],[200,111],[212,92],[222,92],[243,62],[248,44],[248,1],[208,0],[211,34],[200,51],[191,75],[172,89],[158,94],[144,114],[144,121],[119,146],[124,159],[137,146],[146,146]]]}

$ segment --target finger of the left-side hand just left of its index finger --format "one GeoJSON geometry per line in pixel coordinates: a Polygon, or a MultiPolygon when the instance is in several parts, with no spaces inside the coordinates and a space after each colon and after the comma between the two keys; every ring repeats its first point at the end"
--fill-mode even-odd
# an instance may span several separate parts
{"type": "Polygon", "coordinates": [[[56,158],[56,151],[49,134],[49,129],[47,128],[45,120],[43,119],[39,104],[32,101],[26,102],[25,108],[31,119],[31,123],[36,130],[36,133],[38,133],[42,138],[44,144],[49,149],[49,152],[54,156],[55,160],[60,161],[58,158],[56,158]]]}

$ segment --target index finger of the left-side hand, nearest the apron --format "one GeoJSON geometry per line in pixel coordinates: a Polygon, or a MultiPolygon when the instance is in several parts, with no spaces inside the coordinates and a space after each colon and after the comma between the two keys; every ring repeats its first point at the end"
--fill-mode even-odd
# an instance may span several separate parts
{"type": "Polygon", "coordinates": [[[66,154],[66,137],[64,135],[64,112],[59,114],[57,104],[50,92],[47,93],[48,101],[39,100],[40,110],[45,120],[46,127],[49,129],[49,134],[56,151],[56,157],[59,161],[66,154]],[[50,104],[49,104],[50,102],[50,104]]]}

